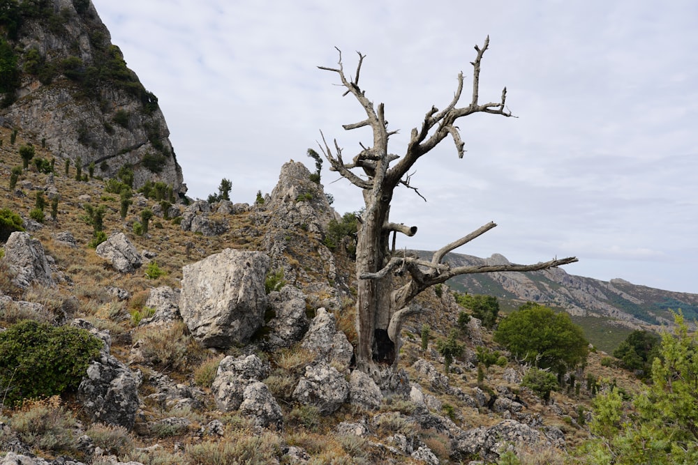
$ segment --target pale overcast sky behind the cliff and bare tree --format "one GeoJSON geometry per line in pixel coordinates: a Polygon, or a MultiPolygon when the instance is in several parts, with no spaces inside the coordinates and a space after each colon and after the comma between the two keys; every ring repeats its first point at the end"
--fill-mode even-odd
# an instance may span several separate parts
{"type": "MultiPolygon", "coordinates": [[[[93,0],[129,68],[158,96],[188,195],[221,178],[232,200],[271,192],[281,165],[314,168],[320,130],[346,159],[371,143],[342,97],[343,51],[385,102],[389,151],[401,155],[459,71],[472,76],[489,34],[481,101],[507,87],[514,118],[459,120],[466,156],[446,139],[400,190],[391,220],[419,232],[399,246],[436,250],[482,224],[456,252],[514,263],[579,257],[567,273],[698,293],[698,3],[626,1],[93,0]]],[[[464,92],[468,102],[469,92],[464,92]]],[[[362,197],[322,171],[339,213],[362,197]],[[334,182],[336,181],[336,182],[334,182]]]]}

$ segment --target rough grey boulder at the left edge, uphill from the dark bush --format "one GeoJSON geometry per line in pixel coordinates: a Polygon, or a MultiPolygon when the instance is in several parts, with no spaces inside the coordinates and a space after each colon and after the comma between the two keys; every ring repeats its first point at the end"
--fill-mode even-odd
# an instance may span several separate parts
{"type": "Polygon", "coordinates": [[[49,266],[43,245],[38,239],[33,239],[28,233],[15,231],[5,244],[5,259],[13,273],[15,286],[27,289],[31,284],[53,286],[49,266]]]}

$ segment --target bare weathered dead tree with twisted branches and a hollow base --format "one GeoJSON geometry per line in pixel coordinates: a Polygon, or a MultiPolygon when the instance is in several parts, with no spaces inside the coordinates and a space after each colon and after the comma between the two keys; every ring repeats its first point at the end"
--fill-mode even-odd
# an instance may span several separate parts
{"type": "MultiPolygon", "coordinates": [[[[467,236],[442,247],[433,254],[431,261],[415,257],[396,256],[391,253],[389,236],[399,232],[414,236],[417,227],[407,227],[403,224],[390,222],[390,201],[398,186],[415,190],[410,185],[408,172],[417,160],[436,147],[443,139],[452,137],[459,158],[463,158],[463,140],[459,128],[454,125],[457,119],[473,113],[491,113],[501,116],[512,116],[505,106],[506,87],[502,91],[499,102],[480,103],[478,89],[480,85],[480,62],[489,46],[489,37],[484,46],[475,46],[477,56],[473,65],[473,95],[468,105],[459,107],[463,92],[463,73],[458,75],[458,87],[453,100],[443,110],[431,107],[424,115],[424,121],[419,128],[412,130],[410,142],[402,156],[388,151],[388,139],[397,131],[390,131],[385,120],[383,103],[378,108],[366,97],[359,87],[359,73],[364,55],[358,53],[359,62],[354,77],[344,73],[341,50],[339,52],[339,67],[321,70],[332,71],[339,75],[342,86],[346,89],[343,96],[352,94],[363,107],[366,119],[358,123],[343,125],[345,130],[370,127],[373,132],[373,144],[364,146],[352,159],[346,162],[342,158],[342,150],[334,141],[331,148],[325,136],[322,135],[320,148],[329,161],[330,169],[338,172],[350,183],[360,188],[364,195],[365,210],[362,215],[356,247],[357,285],[357,333],[358,346],[356,349],[357,367],[372,374],[374,378],[383,378],[386,372],[392,372],[398,362],[400,349],[400,332],[404,321],[419,310],[410,302],[419,294],[435,284],[449,280],[451,277],[467,273],[493,273],[496,271],[532,271],[546,270],[555,266],[577,261],[574,257],[554,259],[533,265],[496,265],[496,266],[460,266],[452,268],[443,262],[448,252],[472,241],[496,226],[489,222],[467,236]],[[392,166],[391,166],[392,165],[392,166]],[[397,285],[393,277],[395,273],[408,276],[406,284],[397,285]],[[389,367],[388,370],[385,368],[389,367]]],[[[417,195],[419,192],[417,192],[417,195]]],[[[421,197],[421,196],[420,196],[421,197]]]]}

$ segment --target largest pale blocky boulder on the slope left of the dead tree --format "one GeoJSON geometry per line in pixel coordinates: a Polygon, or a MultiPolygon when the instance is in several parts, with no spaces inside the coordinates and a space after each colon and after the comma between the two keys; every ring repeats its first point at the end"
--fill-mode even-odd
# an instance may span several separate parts
{"type": "Polygon", "coordinates": [[[179,312],[206,347],[246,344],[264,323],[269,257],[225,249],[184,266],[179,312]]]}

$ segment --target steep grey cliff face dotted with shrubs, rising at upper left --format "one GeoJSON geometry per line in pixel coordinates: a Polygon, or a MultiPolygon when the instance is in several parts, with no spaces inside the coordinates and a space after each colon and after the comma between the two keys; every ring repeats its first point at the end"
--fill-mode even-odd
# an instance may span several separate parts
{"type": "Polygon", "coordinates": [[[0,52],[16,66],[0,84],[1,125],[45,145],[58,166],[80,158],[110,178],[131,165],[135,188],[163,181],[186,192],[157,98],[126,67],[91,1],[43,0],[3,16],[0,52]]]}

